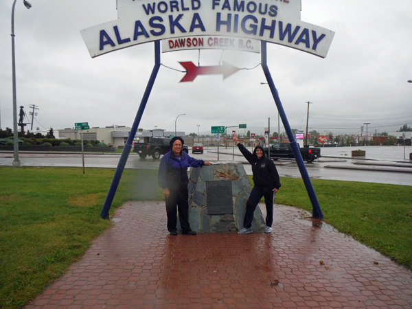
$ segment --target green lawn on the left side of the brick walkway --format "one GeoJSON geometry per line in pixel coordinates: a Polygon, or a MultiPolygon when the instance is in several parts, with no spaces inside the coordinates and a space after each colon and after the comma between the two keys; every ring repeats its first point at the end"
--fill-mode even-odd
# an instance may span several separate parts
{"type": "MultiPolygon", "coordinates": [[[[0,168],[0,308],[20,308],[78,261],[111,226],[100,211],[114,170],[0,168]]],[[[157,172],[125,171],[111,212],[161,200],[157,172]]]]}

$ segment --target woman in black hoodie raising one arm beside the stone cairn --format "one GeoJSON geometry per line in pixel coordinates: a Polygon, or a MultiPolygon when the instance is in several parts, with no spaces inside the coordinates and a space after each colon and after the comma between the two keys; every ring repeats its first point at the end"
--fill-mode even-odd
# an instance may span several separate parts
{"type": "Polygon", "coordinates": [[[238,146],[242,155],[251,163],[253,172],[253,183],[255,186],[247,200],[246,214],[244,215],[243,228],[238,231],[240,234],[252,233],[253,212],[262,196],[266,204],[266,227],[265,233],[271,233],[273,223],[273,200],[279,191],[280,181],[275,163],[264,155],[264,149],[258,145],[253,154],[239,143],[238,137],[233,137],[233,141],[238,146]]]}

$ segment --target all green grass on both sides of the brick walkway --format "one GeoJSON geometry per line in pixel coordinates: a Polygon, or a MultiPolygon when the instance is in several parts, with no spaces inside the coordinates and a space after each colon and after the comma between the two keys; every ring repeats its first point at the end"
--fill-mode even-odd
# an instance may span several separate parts
{"type": "MultiPolygon", "coordinates": [[[[20,308],[33,299],[111,226],[100,211],[114,171],[0,167],[0,308],[20,308]]],[[[301,179],[281,182],[275,203],[311,211],[301,179]]],[[[412,268],[412,187],[312,184],[325,222],[412,268]]],[[[124,171],[111,213],[130,200],[163,200],[157,171],[124,171]]]]}

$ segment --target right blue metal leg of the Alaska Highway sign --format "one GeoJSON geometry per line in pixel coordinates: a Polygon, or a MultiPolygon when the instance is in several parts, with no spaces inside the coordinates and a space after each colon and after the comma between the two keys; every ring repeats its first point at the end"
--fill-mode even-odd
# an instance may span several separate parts
{"type": "Polygon", "coordinates": [[[306,191],[308,191],[310,202],[312,203],[312,218],[323,218],[321,207],[319,206],[319,202],[317,201],[316,194],[314,193],[312,183],[310,182],[309,174],[308,174],[308,171],[306,170],[304,159],[302,159],[301,153],[299,151],[299,147],[297,146],[297,142],[295,141],[295,137],[293,137],[293,133],[292,133],[292,130],[290,129],[288,118],[286,117],[286,113],[283,109],[282,102],[280,102],[279,94],[277,93],[277,89],[275,87],[275,84],[273,83],[271,72],[269,71],[269,68],[267,65],[266,41],[261,41],[261,46],[262,46],[261,48],[262,60],[261,61],[262,61],[262,68],[264,71],[264,75],[266,76],[266,80],[271,89],[273,99],[275,99],[277,111],[279,111],[279,115],[282,119],[282,123],[284,124],[286,134],[288,135],[290,146],[292,147],[293,155],[295,155],[297,166],[299,167],[299,171],[301,173],[302,179],[304,180],[304,184],[306,186],[306,191]]]}

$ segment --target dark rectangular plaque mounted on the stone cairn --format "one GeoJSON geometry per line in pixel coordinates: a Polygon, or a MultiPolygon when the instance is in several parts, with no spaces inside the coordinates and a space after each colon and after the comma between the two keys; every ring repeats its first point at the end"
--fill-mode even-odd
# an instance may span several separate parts
{"type": "Polygon", "coordinates": [[[206,181],[207,214],[233,214],[231,181],[206,181]]]}

